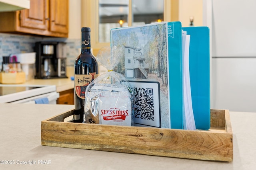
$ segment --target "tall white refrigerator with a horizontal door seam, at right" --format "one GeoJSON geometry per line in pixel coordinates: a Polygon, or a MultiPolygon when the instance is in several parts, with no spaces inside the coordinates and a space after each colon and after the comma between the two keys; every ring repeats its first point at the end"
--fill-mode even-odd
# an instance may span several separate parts
{"type": "Polygon", "coordinates": [[[255,112],[256,1],[211,3],[211,108],[255,112]]]}

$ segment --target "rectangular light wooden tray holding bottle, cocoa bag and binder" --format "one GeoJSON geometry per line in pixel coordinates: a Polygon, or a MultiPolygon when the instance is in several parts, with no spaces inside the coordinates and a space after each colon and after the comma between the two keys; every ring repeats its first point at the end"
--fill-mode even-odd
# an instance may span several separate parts
{"type": "Polygon", "coordinates": [[[42,145],[199,160],[233,160],[228,110],[211,109],[208,131],[64,122],[73,110],[41,122],[42,145]]]}

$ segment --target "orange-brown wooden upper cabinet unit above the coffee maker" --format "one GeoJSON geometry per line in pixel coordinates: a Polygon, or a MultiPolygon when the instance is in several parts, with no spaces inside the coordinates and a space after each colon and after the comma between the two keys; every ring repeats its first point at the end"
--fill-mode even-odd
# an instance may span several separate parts
{"type": "Polygon", "coordinates": [[[0,13],[0,32],[68,37],[68,0],[30,0],[29,10],[0,13]]]}

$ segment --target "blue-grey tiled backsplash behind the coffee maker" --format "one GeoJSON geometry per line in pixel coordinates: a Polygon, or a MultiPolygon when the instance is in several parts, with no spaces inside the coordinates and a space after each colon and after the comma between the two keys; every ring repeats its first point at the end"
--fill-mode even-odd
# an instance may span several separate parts
{"type": "Polygon", "coordinates": [[[37,41],[65,42],[67,66],[73,66],[76,57],[80,54],[80,39],[45,38],[30,35],[0,33],[0,69],[2,69],[2,56],[9,56],[14,53],[34,52],[35,42],[37,41]]]}

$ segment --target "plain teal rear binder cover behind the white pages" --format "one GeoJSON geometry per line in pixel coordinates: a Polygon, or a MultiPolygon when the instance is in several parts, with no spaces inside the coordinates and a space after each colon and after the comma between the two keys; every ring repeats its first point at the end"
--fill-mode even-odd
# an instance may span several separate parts
{"type": "Polygon", "coordinates": [[[210,129],[210,38],[208,27],[182,27],[190,35],[189,70],[196,129],[210,129]]]}

